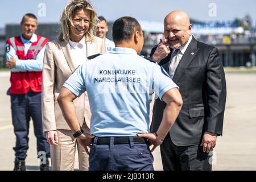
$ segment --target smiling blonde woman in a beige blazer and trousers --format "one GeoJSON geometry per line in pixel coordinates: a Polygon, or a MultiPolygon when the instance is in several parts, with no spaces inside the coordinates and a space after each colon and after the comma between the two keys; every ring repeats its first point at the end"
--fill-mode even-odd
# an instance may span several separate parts
{"type": "MultiPolygon", "coordinates": [[[[58,39],[46,46],[43,64],[43,131],[51,144],[51,164],[53,170],[73,170],[75,151],[79,154],[79,169],[87,170],[88,155],[76,143],[57,97],[68,77],[86,57],[105,52],[104,40],[94,36],[97,14],[87,0],[73,0],[61,15],[61,33],[58,39]]],[[[89,133],[90,107],[87,94],[75,100],[77,118],[81,128],[89,133]]]]}

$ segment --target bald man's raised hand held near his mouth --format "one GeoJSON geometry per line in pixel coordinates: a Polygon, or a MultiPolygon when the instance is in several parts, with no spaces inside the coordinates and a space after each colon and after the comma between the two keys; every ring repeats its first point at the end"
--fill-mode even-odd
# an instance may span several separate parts
{"type": "Polygon", "coordinates": [[[167,44],[167,39],[160,39],[160,43],[156,48],[154,55],[152,55],[152,59],[159,63],[162,59],[164,59],[168,54],[171,53],[170,47],[167,44]]]}

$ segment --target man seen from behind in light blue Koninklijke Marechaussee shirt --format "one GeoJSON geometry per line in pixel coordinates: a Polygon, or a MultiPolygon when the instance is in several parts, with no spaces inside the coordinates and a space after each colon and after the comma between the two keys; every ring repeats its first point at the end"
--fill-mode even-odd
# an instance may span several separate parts
{"type": "Polygon", "coordinates": [[[63,85],[58,101],[74,137],[90,148],[89,170],[154,170],[148,145],[162,143],[182,105],[177,85],[163,68],[138,54],[143,34],[129,16],[113,25],[115,48],[82,64],[63,85]],[[73,100],[88,93],[91,135],[83,133],[73,100]],[[156,133],[149,133],[152,92],[167,102],[156,133]]]}

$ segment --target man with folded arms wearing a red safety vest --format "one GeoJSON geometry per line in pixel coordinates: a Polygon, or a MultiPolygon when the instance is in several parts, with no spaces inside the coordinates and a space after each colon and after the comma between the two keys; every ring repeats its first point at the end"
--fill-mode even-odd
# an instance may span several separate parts
{"type": "Polygon", "coordinates": [[[26,14],[20,23],[22,34],[6,42],[6,66],[11,69],[11,114],[16,135],[14,171],[26,170],[28,131],[32,118],[40,170],[48,171],[49,144],[42,129],[42,68],[48,39],[35,35],[38,27],[34,14],[26,14]]]}

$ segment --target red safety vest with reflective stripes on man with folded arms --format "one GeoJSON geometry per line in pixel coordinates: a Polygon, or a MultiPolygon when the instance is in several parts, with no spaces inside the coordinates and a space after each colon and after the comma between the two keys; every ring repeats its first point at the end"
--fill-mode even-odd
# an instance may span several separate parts
{"type": "MultiPolygon", "coordinates": [[[[26,55],[24,53],[24,44],[20,36],[10,38],[6,43],[15,49],[19,60],[36,59],[36,55],[38,55],[49,41],[42,36],[36,36],[38,37],[37,42],[31,44],[26,55]]],[[[33,92],[42,92],[42,71],[11,72],[10,82],[10,94],[26,94],[30,89],[33,92]]]]}

